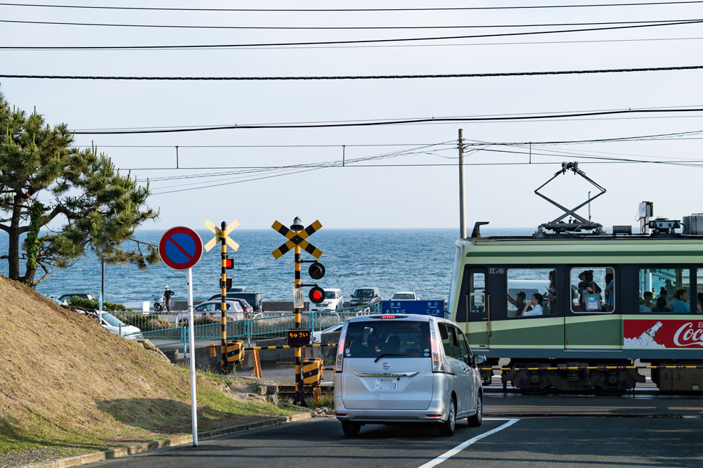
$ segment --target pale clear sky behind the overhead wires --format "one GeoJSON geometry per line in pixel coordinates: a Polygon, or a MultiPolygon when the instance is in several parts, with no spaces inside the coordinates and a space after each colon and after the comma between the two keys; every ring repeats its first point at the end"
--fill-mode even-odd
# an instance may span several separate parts
{"type": "MultiPolygon", "coordinates": [[[[630,0],[631,1],[631,0],[630,0]]],[[[47,5],[164,6],[156,1],[39,0],[47,5]]],[[[420,8],[626,3],[527,1],[169,1],[181,8],[420,8]]],[[[0,23],[0,46],[155,46],[349,41],[498,34],[603,26],[587,22],[692,20],[703,3],[598,8],[460,11],[129,11],[0,6],[0,20],[240,27],[480,26],[400,30],[262,30],[0,23]]],[[[702,65],[699,24],[480,39],[335,47],[214,50],[2,50],[0,74],[284,77],[466,74],[702,65]],[[642,40],[646,39],[646,40],[642,40]],[[654,40],[657,39],[657,40],[654,40]],[[658,40],[664,39],[664,40],[658,40]],[[490,43],[490,44],[486,44],[490,43]],[[529,43],[529,44],[528,44],[529,43]]],[[[703,70],[520,77],[314,81],[105,81],[0,78],[12,105],[76,131],[143,127],[475,117],[590,110],[696,108],[703,70]]],[[[701,105],[700,107],[703,107],[701,105]]],[[[560,211],[534,194],[564,161],[605,187],[591,204],[604,226],[636,224],[639,202],[657,216],[703,212],[699,134],[658,141],[543,142],[703,130],[702,112],[507,122],[430,122],[318,129],[228,129],[163,134],[76,135],[123,174],[150,181],[160,212],[143,228],[202,228],[237,219],[239,229],[299,216],[329,228],[458,228],[458,129],[465,143],[467,226],[531,227],[560,211]],[[496,143],[534,142],[531,145],[496,143]],[[475,145],[475,143],[481,143],[475,145]],[[493,144],[491,144],[493,143],[493,144]],[[178,169],[176,169],[178,146],[178,169]],[[155,148],[162,147],[162,148],[155,148]],[[189,148],[190,147],[190,148],[189,148]],[[198,147],[198,148],[193,148],[198,147]],[[216,148],[219,147],[219,148],[216,148]],[[509,151],[509,152],[505,152],[509,151]],[[529,154],[531,152],[531,155],[529,154]],[[368,157],[380,159],[358,161],[368,157]],[[344,167],[342,167],[344,157],[344,167]],[[595,158],[595,159],[594,159],[595,158]],[[645,160],[631,163],[626,160],[645,160]],[[354,160],[357,160],[356,162],[354,160]],[[654,163],[656,162],[656,163],[654,163]],[[669,163],[669,164],[661,164],[669,163]],[[329,163],[330,167],[295,168],[329,163]],[[548,163],[548,164],[544,164],[548,163]],[[243,172],[246,171],[246,172],[243,172]],[[207,175],[207,176],[202,176],[207,175]],[[201,176],[201,177],[196,177],[201,176]],[[179,177],[179,178],[174,178],[179,177]]],[[[597,189],[574,174],[543,192],[574,207],[597,189]]],[[[580,212],[587,216],[586,209],[580,212]]]]}

